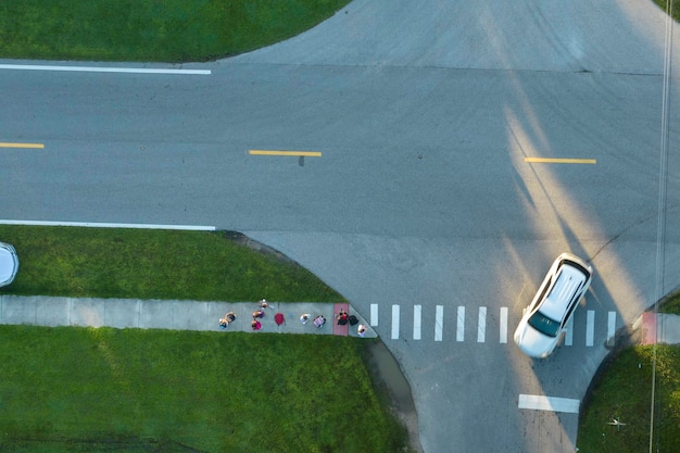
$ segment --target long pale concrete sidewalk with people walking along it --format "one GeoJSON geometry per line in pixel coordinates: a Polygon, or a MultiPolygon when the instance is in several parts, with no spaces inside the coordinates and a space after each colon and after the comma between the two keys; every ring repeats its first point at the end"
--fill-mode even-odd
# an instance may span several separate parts
{"type": "Polygon", "coordinates": [[[0,324],[30,326],[90,326],[141,329],[214,330],[221,332],[244,331],[252,334],[314,334],[358,337],[358,324],[366,326],[366,338],[377,334],[368,323],[349,305],[350,315],[358,324],[349,329],[333,329],[335,306],[330,302],[270,302],[265,316],[260,319],[262,329],[251,328],[252,314],[260,310],[259,302],[205,302],[138,299],[86,299],[54,297],[23,297],[0,294],[0,324]],[[219,318],[235,312],[236,319],[226,329],[219,328],[219,318]],[[278,326],[276,313],[282,313],[285,323],[278,326]],[[300,316],[311,316],[306,324],[300,316]],[[316,328],[312,319],[323,315],[326,324],[316,328]]]}

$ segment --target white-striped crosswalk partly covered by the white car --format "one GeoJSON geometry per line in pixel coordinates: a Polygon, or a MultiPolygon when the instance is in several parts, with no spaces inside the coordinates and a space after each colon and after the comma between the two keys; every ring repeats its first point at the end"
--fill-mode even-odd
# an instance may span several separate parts
{"type": "MultiPolygon", "coordinates": [[[[431,307],[424,307],[420,304],[414,304],[413,309],[401,304],[391,304],[391,306],[386,307],[374,303],[370,304],[369,324],[372,327],[379,327],[382,320],[380,315],[386,313],[385,317],[389,316],[391,340],[411,338],[416,341],[474,341],[477,343],[498,341],[499,343],[507,343],[508,336],[512,335],[519,320],[518,318],[511,320],[507,306],[492,310],[487,306],[479,306],[466,310],[467,307],[464,305],[454,307],[435,305],[432,311],[431,307]]],[[[582,312],[577,310],[575,316],[567,323],[564,345],[574,345],[574,325],[575,318],[577,318],[576,323],[580,323],[578,332],[582,335],[583,344],[592,348],[595,344],[596,328],[599,334],[604,332],[604,323],[600,322],[601,316],[602,314],[595,316],[594,310],[588,310],[583,319],[582,312]],[[583,322],[585,324],[584,329],[583,322]]],[[[617,313],[606,312],[605,338],[608,347],[614,345],[616,326],[617,313]]],[[[579,343],[581,338],[577,339],[579,343]]]]}

